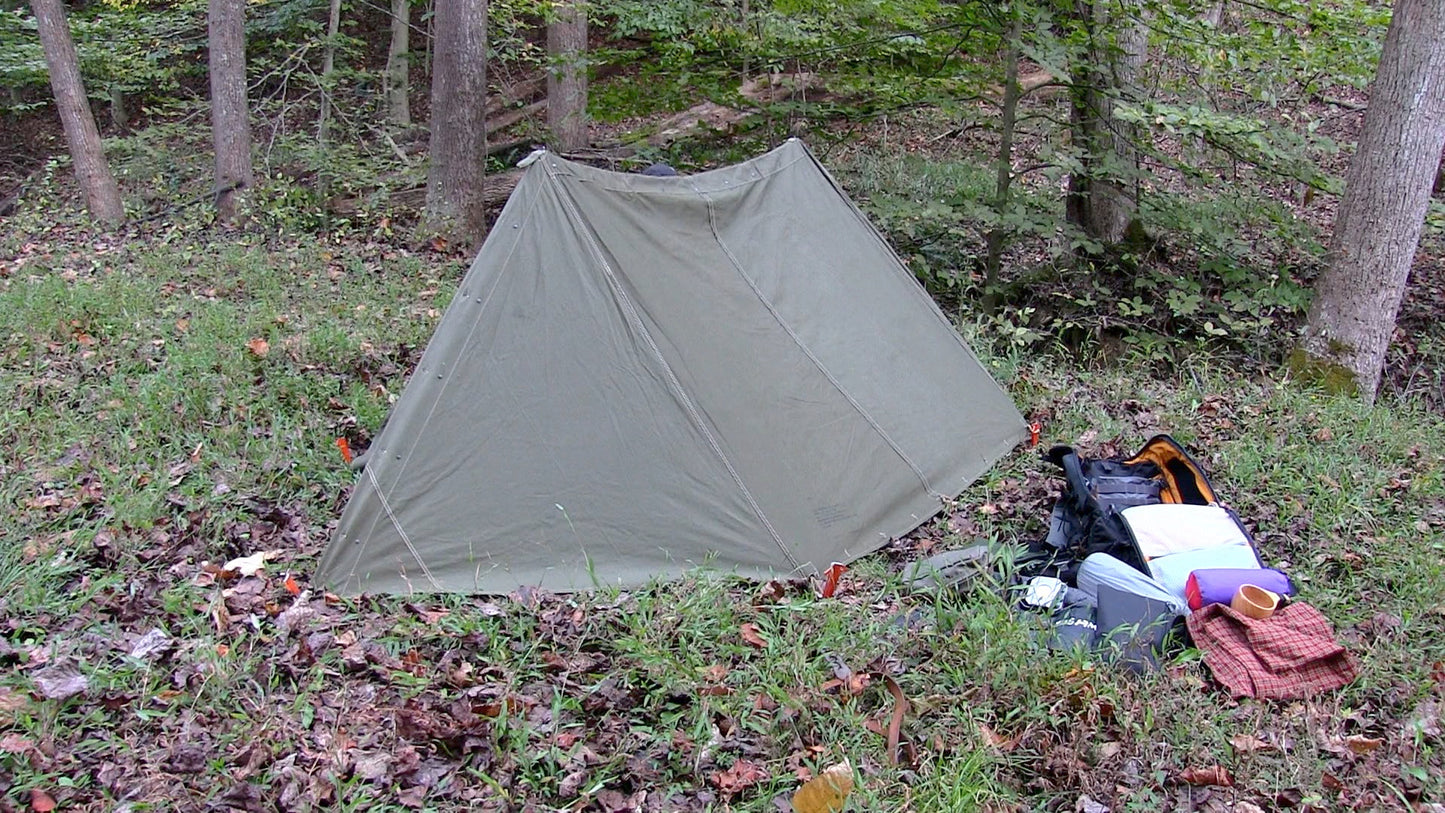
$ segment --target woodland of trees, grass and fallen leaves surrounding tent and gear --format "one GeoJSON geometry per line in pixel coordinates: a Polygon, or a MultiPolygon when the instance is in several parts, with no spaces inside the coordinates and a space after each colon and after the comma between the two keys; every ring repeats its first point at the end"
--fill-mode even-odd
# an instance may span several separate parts
{"type": "Polygon", "coordinates": [[[0,812],[789,810],[844,760],[847,810],[1438,810],[1442,152],[1436,0],[0,0],[0,812]],[[1033,446],[828,598],[312,581],[519,162],[792,137],[1042,448],[1178,438],[1360,679],[909,592],[1045,537],[1033,446]]]}

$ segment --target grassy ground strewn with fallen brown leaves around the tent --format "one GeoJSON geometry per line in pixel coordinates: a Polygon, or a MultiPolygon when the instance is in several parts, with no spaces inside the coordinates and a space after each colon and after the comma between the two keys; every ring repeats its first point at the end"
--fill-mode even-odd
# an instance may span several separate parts
{"type": "MultiPolygon", "coordinates": [[[[353,478],[334,439],[368,442],[462,261],[381,225],[81,222],[62,181],[0,219],[0,810],[788,810],[844,758],[853,810],[1445,809],[1420,399],[1209,352],[1142,377],[961,322],[1045,446],[1196,453],[1358,660],[1311,700],[1234,700],[1195,650],[1144,677],[1051,653],[991,585],[909,595],[909,560],[1042,536],[1061,482],[1029,448],[827,599],[708,572],[338,598],[311,583],[353,478]]],[[[1441,267],[1402,322],[1426,336],[1441,267]]]]}

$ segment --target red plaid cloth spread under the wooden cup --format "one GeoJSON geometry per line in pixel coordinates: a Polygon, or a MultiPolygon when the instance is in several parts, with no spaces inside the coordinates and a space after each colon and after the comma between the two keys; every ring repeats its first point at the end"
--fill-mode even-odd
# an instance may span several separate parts
{"type": "Polygon", "coordinates": [[[1329,621],[1308,604],[1290,602],[1264,619],[1211,604],[1189,615],[1188,627],[1215,680],[1235,697],[1308,697],[1360,674],[1329,621]]]}

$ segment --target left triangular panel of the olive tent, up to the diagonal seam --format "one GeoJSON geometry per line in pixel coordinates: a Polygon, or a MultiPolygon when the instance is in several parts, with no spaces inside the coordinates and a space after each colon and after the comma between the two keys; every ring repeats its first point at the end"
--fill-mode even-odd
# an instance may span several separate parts
{"type": "MultiPolygon", "coordinates": [[[[530,217],[561,217],[555,189],[536,186],[517,194],[539,198],[530,217]]],[[[376,439],[322,572],[373,592],[577,589],[646,581],[663,552],[696,566],[711,546],[743,572],[786,570],[605,283],[582,271],[579,238],[527,230],[486,254],[376,439]]]]}

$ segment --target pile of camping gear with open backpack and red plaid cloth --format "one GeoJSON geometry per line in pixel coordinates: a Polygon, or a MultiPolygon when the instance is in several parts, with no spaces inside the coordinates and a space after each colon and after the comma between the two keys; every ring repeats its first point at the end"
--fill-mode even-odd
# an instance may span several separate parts
{"type": "Polygon", "coordinates": [[[1127,459],[1045,455],[1065,490],[1020,568],[1022,605],[1048,612],[1051,644],[1144,671],[1186,627],[1235,696],[1302,697],[1355,679],[1324,615],[1266,568],[1240,517],[1168,435],[1127,459]],[[1185,622],[1185,619],[1188,621],[1185,622]]]}

